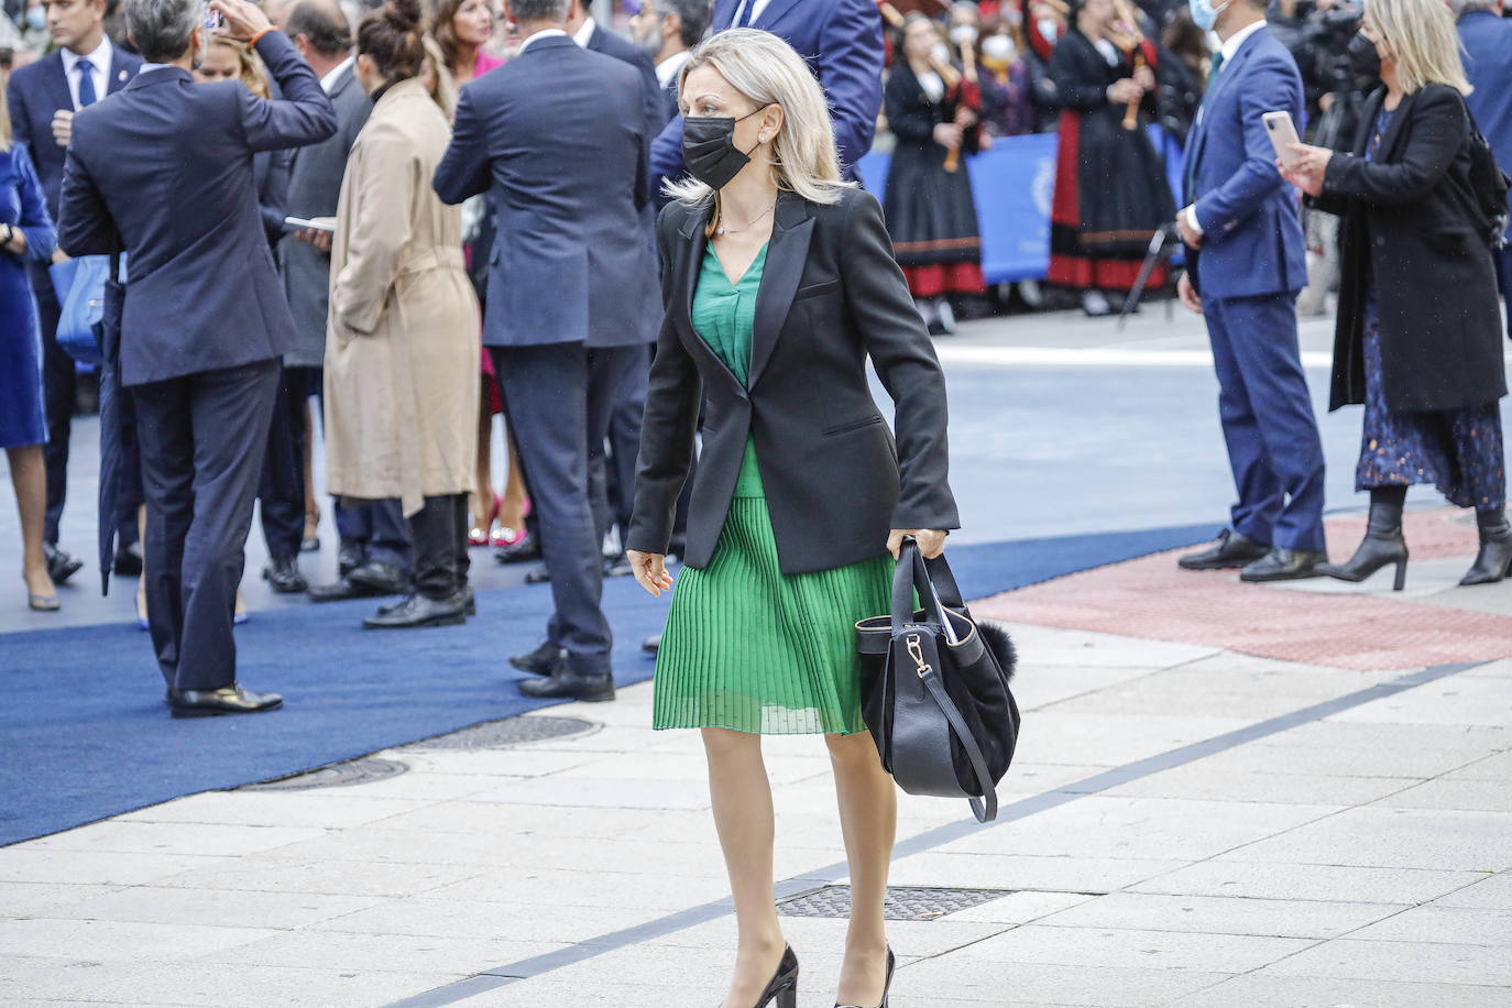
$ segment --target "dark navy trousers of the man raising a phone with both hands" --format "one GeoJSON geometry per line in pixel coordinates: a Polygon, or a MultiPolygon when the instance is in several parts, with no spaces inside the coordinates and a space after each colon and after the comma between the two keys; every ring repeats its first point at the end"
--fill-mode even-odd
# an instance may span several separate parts
{"type": "Polygon", "coordinates": [[[169,689],[236,682],[231,609],[278,396],[277,358],[136,385],[147,612],[169,689]]]}

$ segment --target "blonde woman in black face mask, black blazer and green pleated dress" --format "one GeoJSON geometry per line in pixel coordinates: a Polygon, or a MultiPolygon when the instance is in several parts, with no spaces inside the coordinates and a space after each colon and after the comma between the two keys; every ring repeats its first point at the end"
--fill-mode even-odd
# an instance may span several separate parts
{"type": "Polygon", "coordinates": [[[945,382],[877,201],[841,181],[824,94],[797,53],[723,32],[679,103],[692,181],[658,224],[668,305],[652,369],[629,558],[653,595],[705,411],[688,549],[656,660],[655,727],[700,728],[739,926],[724,1008],[797,1003],[773,902],[761,736],[824,734],[851,872],[839,1002],[886,1003],[892,778],[860,716],[856,621],[888,609],[904,535],[959,527],[945,382]],[[897,441],[866,358],[897,404],[897,441]]]}

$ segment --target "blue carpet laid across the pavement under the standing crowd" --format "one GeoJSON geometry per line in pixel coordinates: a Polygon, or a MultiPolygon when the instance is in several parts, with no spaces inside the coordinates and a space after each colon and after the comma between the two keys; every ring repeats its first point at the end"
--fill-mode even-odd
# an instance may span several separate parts
{"type": "MultiPolygon", "coordinates": [[[[1001,591],[1188,546],[1213,526],[953,547],[962,591],[1001,591]]],[[[605,583],[615,680],[643,682],[640,651],[665,600],[605,583]]],[[[392,745],[549,706],[520,697],[510,654],[538,642],[544,586],[478,595],[463,627],[375,633],[370,601],[257,612],[237,629],[240,679],[284,695],[254,718],[172,721],[147,635],[95,626],[0,635],[0,846],[201,790],[286,777],[392,745]]]]}

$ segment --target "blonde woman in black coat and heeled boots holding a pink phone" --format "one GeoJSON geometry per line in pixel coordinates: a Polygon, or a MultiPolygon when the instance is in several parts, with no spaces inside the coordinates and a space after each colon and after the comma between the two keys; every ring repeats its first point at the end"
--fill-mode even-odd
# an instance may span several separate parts
{"type": "Polygon", "coordinates": [[[1430,482],[1476,509],[1480,553],[1461,583],[1501,580],[1512,567],[1497,404],[1506,370],[1458,36],[1438,0],[1370,0],[1361,33],[1385,88],[1365,103],[1353,153],[1297,145],[1282,166],[1344,218],[1331,408],[1365,407],[1355,487],[1370,491],[1370,526],[1353,559],[1318,570],[1358,582],[1396,564],[1400,589],[1406,488],[1430,482]]]}

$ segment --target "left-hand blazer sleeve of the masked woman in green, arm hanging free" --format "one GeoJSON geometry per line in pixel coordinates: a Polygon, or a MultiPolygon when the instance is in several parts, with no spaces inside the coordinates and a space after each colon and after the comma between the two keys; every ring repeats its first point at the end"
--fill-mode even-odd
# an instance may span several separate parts
{"type": "MultiPolygon", "coordinates": [[[[673,277],[671,236],[686,210],[670,203],[656,222],[656,248],[661,252],[662,308],[670,308],[677,283],[673,277]]],[[[641,422],[641,450],[635,461],[635,509],[626,549],[640,553],[667,553],[677,497],[692,468],[699,408],[703,405],[703,379],[688,348],[677,335],[671,311],[665,311],[656,337],[646,416],[641,422]]]]}

